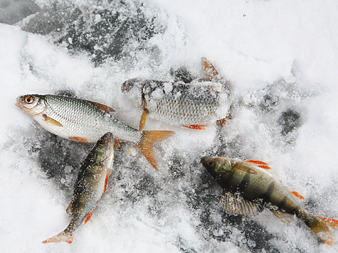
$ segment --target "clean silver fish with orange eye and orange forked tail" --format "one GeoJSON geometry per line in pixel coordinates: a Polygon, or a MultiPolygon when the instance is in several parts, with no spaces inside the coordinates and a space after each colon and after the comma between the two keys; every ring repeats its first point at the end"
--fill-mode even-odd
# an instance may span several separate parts
{"type": "Polygon", "coordinates": [[[115,141],[131,141],[156,169],[153,144],[174,131],[138,131],[114,117],[114,109],[105,104],[58,95],[23,95],[16,99],[23,109],[44,129],[65,139],[95,143],[108,131],[115,141]]]}

